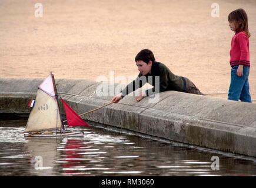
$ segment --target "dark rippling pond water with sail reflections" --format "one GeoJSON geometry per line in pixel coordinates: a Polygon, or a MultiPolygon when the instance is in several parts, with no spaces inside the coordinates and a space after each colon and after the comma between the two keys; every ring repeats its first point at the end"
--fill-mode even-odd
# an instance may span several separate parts
{"type": "Polygon", "coordinates": [[[0,116],[0,176],[256,175],[252,157],[97,127],[75,129],[84,137],[28,138],[21,134],[26,120],[0,116]],[[212,156],[220,159],[219,170],[212,170],[212,156]]]}

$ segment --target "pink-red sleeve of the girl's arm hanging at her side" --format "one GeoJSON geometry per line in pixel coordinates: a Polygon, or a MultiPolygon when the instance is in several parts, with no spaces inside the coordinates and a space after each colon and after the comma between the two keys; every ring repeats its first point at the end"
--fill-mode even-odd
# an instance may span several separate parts
{"type": "Polygon", "coordinates": [[[240,60],[239,65],[245,65],[247,61],[249,61],[249,52],[248,52],[248,44],[247,44],[247,36],[240,35],[238,37],[238,44],[240,46],[240,60]]]}

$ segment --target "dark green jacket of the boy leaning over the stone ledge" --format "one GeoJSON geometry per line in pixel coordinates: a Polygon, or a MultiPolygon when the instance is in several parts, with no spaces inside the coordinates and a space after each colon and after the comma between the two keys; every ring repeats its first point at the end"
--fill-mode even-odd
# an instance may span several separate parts
{"type": "Polygon", "coordinates": [[[129,93],[134,92],[136,89],[141,88],[146,82],[154,86],[154,88],[146,91],[147,96],[155,93],[155,88],[157,86],[159,86],[159,92],[164,92],[166,90],[177,90],[180,92],[185,91],[182,76],[174,75],[174,73],[172,73],[171,70],[169,70],[163,63],[155,61],[151,66],[151,74],[148,73],[143,78],[143,75],[139,73],[138,77],[121,91],[122,96],[126,96],[129,93]],[[159,76],[159,81],[156,76],[159,76]]]}

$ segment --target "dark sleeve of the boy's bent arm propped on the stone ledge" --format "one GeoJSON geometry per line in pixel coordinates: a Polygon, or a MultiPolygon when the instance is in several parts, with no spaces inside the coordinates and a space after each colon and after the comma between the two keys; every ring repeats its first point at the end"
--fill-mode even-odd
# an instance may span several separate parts
{"type": "MultiPolygon", "coordinates": [[[[159,93],[167,90],[167,86],[168,86],[167,69],[161,70],[160,76],[159,76],[159,82],[155,83],[155,87],[156,87],[156,85],[158,85],[159,93]]],[[[146,90],[147,96],[150,96],[155,93],[155,87],[146,90]]]]}

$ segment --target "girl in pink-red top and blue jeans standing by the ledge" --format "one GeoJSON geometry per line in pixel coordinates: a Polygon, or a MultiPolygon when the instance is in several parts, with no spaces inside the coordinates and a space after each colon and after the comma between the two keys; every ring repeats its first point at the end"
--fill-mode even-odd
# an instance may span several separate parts
{"type": "Polygon", "coordinates": [[[244,9],[236,9],[228,15],[231,31],[235,35],[231,41],[230,65],[231,82],[228,90],[229,100],[251,102],[248,76],[250,72],[250,52],[248,19],[244,9]]]}

